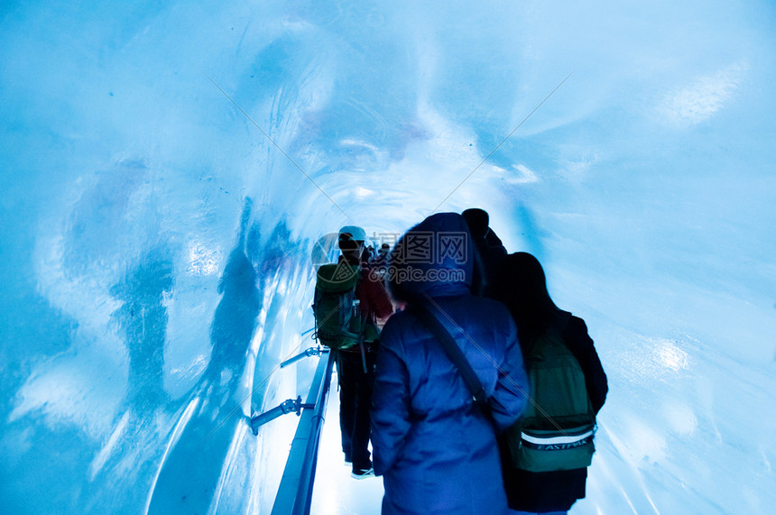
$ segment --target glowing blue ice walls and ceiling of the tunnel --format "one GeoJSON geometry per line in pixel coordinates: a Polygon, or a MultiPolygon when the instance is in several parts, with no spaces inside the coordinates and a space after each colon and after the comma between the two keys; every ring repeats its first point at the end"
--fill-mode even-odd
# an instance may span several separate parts
{"type": "Polygon", "coordinates": [[[578,513],[776,502],[770,2],[6,2],[0,505],[258,513],[310,253],[485,207],[611,394],[578,513]]]}

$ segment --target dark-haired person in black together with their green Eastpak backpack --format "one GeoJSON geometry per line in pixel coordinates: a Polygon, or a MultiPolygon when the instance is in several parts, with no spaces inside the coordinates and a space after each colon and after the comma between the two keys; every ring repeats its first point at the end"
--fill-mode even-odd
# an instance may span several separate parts
{"type": "MultiPolygon", "coordinates": [[[[590,430],[585,429],[595,430],[595,415],[604,405],[608,391],[606,374],[596,353],[593,340],[587,335],[585,321],[562,311],[550,299],[544,271],[534,256],[530,253],[508,255],[501,263],[498,277],[499,280],[494,291],[495,298],[502,300],[509,308],[517,324],[522,354],[531,378],[531,388],[534,388],[531,391],[531,399],[542,409],[550,411],[548,414],[542,413],[539,407],[529,408],[518,424],[518,426],[523,423],[526,425],[522,428],[510,429],[510,433],[516,435],[518,439],[527,439],[521,441],[521,445],[524,447],[515,448],[513,446],[512,449],[504,449],[506,454],[503,459],[504,483],[509,506],[516,510],[513,513],[565,513],[577,499],[585,497],[586,464],[583,463],[577,468],[569,467],[576,467],[577,460],[587,459],[587,464],[589,464],[589,460],[592,458],[595,449],[592,443],[593,435],[590,430]],[[556,363],[567,364],[561,365],[561,368],[558,369],[560,372],[550,373],[563,374],[561,382],[564,383],[574,383],[574,374],[577,373],[578,377],[577,370],[579,368],[584,374],[576,380],[577,391],[568,392],[574,397],[562,397],[560,401],[558,399],[564,392],[560,391],[559,393],[559,390],[556,389],[551,392],[549,397],[545,396],[545,391],[538,391],[541,390],[540,386],[534,387],[534,378],[538,376],[535,375],[535,372],[531,372],[532,363],[536,359],[545,360],[542,363],[547,365],[547,360],[550,359],[547,345],[553,345],[553,341],[557,345],[565,345],[565,347],[552,352],[561,355],[560,353],[565,352],[565,349],[568,348],[568,351],[573,354],[573,358],[570,360],[570,364],[568,364],[568,360],[564,362],[561,358],[555,358],[559,360],[556,363]],[[541,350],[543,354],[540,356],[536,354],[537,351],[540,351],[536,345],[544,345],[543,350],[541,350]],[[574,363],[574,358],[576,358],[578,367],[574,363]],[[568,399],[576,399],[576,401],[570,402],[568,399]],[[567,412],[560,416],[557,406],[553,406],[555,402],[562,402],[564,406],[577,405],[576,411],[578,413],[572,417],[568,411],[573,409],[564,407],[562,409],[566,409],[567,412]],[[534,420],[542,418],[544,415],[554,417],[552,423],[544,422],[545,428],[558,430],[557,427],[554,427],[556,424],[559,428],[563,428],[563,431],[559,431],[559,433],[563,440],[562,444],[567,446],[562,449],[563,452],[567,453],[566,455],[560,455],[557,451],[547,451],[546,447],[541,447],[541,439],[534,439],[527,434],[530,433],[530,430],[527,429],[529,424],[526,419],[531,416],[531,410],[534,411],[534,420]],[[570,429],[569,425],[583,429],[575,431],[570,429]],[[563,465],[561,468],[565,468],[565,470],[531,472],[524,468],[542,467],[525,466],[518,468],[515,466],[515,459],[518,462],[522,459],[521,452],[532,452],[533,454],[528,457],[535,460],[536,463],[540,463],[544,459],[541,457],[542,452],[545,455],[548,453],[555,455],[555,457],[548,458],[548,460],[555,460],[555,463],[548,463],[543,468],[553,469],[563,465]],[[587,453],[587,457],[580,453],[587,453]],[[566,463],[567,459],[571,461],[566,463]]],[[[539,379],[535,381],[538,381],[538,384],[547,384],[547,382],[540,382],[539,379]]],[[[554,443],[557,441],[556,438],[554,443]]],[[[511,445],[513,442],[514,440],[510,440],[511,445]]],[[[524,465],[520,464],[520,466],[524,465]]]]}

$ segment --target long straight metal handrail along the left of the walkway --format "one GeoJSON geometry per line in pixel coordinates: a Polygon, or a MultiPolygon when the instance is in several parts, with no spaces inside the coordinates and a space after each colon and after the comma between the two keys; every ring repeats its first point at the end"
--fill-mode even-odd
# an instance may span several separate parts
{"type": "Polygon", "coordinates": [[[299,425],[286,461],[281,485],[275,496],[273,515],[308,515],[318,464],[320,431],[326,418],[334,355],[321,349],[318,367],[309,387],[307,403],[302,404],[299,425]],[[324,359],[324,357],[326,359],[324,359]]]}

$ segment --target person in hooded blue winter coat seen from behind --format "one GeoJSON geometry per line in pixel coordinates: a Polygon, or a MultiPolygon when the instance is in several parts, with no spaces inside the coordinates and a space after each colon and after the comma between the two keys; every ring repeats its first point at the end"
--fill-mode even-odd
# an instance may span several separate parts
{"type": "Polygon", "coordinates": [[[389,289],[407,308],[385,324],[377,354],[372,446],[383,514],[507,512],[496,434],[521,415],[528,386],[509,311],[472,294],[473,250],[463,217],[439,213],[391,253],[389,289]],[[420,302],[463,329],[452,334],[485,388],[490,417],[414,316],[420,302]]]}

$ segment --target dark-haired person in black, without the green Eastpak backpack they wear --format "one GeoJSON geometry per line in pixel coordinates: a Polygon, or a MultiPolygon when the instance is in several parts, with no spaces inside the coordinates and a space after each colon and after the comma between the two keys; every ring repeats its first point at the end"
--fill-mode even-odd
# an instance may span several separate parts
{"type": "MultiPolygon", "coordinates": [[[[530,253],[506,256],[498,270],[495,299],[509,308],[517,324],[523,355],[532,342],[559,320],[568,319],[561,336],[585,373],[587,394],[595,413],[604,406],[608,385],[593,340],[582,318],[559,309],[550,298],[540,262],[530,253]]],[[[565,513],[585,497],[587,468],[532,473],[504,459],[504,482],[513,513],[565,513]]]]}

